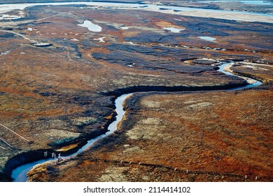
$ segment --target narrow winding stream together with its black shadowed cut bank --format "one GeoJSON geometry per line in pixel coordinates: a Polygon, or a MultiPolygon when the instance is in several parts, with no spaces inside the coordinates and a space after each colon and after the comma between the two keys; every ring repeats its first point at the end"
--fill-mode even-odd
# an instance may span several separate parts
{"type": "MultiPolygon", "coordinates": [[[[203,59],[204,60],[204,59],[203,59]]],[[[225,73],[229,76],[235,76],[233,75],[231,72],[232,70],[230,70],[230,65],[233,65],[234,62],[221,62],[219,65],[219,71],[222,73],[225,73]],[[230,72],[226,72],[225,70],[228,70],[230,72]]],[[[235,76],[237,78],[240,78],[241,76],[235,76]]],[[[187,91],[187,90],[191,90],[191,91],[200,91],[200,90],[241,90],[244,88],[248,88],[248,87],[257,87],[259,85],[261,85],[262,83],[260,83],[258,80],[253,80],[251,78],[246,78],[243,77],[245,80],[245,83],[241,83],[241,84],[233,84],[233,85],[225,85],[225,86],[212,86],[212,87],[153,87],[153,86],[146,86],[146,87],[134,87],[134,88],[125,88],[123,90],[116,90],[115,92],[109,92],[107,93],[107,95],[111,96],[111,95],[116,95],[118,98],[115,100],[115,107],[116,107],[116,113],[117,116],[115,117],[115,121],[113,121],[113,123],[109,124],[107,130],[108,132],[103,132],[100,133],[98,132],[97,136],[93,136],[92,139],[90,139],[89,141],[87,141],[87,144],[85,144],[84,146],[80,146],[80,145],[69,145],[69,146],[73,146],[73,148],[67,148],[67,147],[63,147],[62,149],[66,149],[63,151],[57,150],[57,152],[62,152],[65,153],[66,156],[64,157],[64,155],[58,156],[58,158],[61,158],[62,160],[64,160],[65,162],[67,160],[71,160],[71,156],[75,156],[75,155],[79,155],[80,153],[83,153],[84,151],[86,151],[88,148],[90,148],[90,146],[92,146],[93,144],[97,143],[99,140],[103,139],[104,137],[108,137],[110,134],[113,134],[114,132],[116,132],[116,130],[118,129],[118,124],[122,123],[122,119],[123,119],[123,115],[125,115],[125,111],[123,110],[123,102],[125,101],[125,99],[127,99],[127,97],[130,97],[132,95],[132,92],[183,92],[183,91],[187,91]],[[249,83],[249,80],[251,80],[251,83],[249,83]],[[255,84],[256,83],[256,84],[255,84]],[[248,85],[247,85],[248,84],[248,85]],[[241,87],[240,87],[241,86],[241,87]],[[125,94],[125,92],[130,92],[130,94],[125,94]],[[73,151],[75,151],[75,153],[72,153],[73,151]],[[72,154],[71,154],[72,153],[72,154]]],[[[131,103],[132,104],[132,103],[131,103]]],[[[135,104],[135,103],[134,103],[135,104]]],[[[110,120],[110,119],[109,119],[110,120]]],[[[84,144],[85,141],[81,141],[81,144],[84,144]]],[[[54,152],[55,154],[57,152],[54,152]]],[[[12,177],[15,179],[15,181],[27,181],[27,172],[31,169],[31,167],[39,167],[38,164],[44,165],[47,164],[47,162],[45,162],[48,159],[48,153],[50,153],[50,151],[35,151],[35,152],[29,152],[29,153],[24,153],[24,154],[20,154],[15,156],[14,158],[8,160],[7,164],[6,164],[6,173],[7,174],[11,174],[11,170],[10,169],[14,169],[13,170],[13,175],[12,177]],[[44,153],[44,156],[43,156],[44,153]],[[43,159],[45,161],[43,161],[43,159]],[[35,161],[34,160],[41,160],[41,161],[35,161]],[[28,163],[29,164],[24,164],[24,163],[28,163]],[[45,162],[45,163],[44,163],[45,162]],[[20,167],[18,167],[19,165],[22,165],[20,167]],[[25,165],[27,167],[25,167],[25,165]],[[15,167],[17,167],[15,169],[15,167]],[[24,172],[22,172],[24,171],[24,172]]],[[[51,152],[52,153],[52,152],[51,152]]],[[[53,154],[53,153],[52,153],[53,154]]],[[[51,164],[51,162],[49,163],[51,164]]],[[[35,169],[34,169],[35,170],[35,169]]]]}

